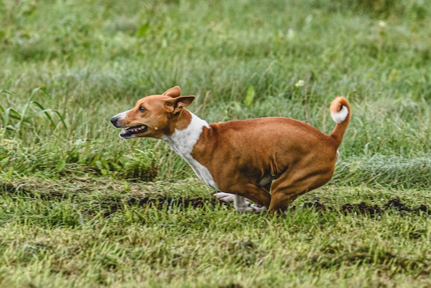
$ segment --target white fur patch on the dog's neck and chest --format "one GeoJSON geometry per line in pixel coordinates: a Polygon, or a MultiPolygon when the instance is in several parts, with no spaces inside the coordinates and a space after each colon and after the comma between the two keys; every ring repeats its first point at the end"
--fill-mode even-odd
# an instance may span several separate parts
{"type": "MultiPolygon", "coordinates": [[[[191,112],[190,112],[191,113],[191,112]]],[[[196,161],[192,156],[193,146],[199,139],[204,127],[209,127],[207,121],[200,119],[195,114],[191,113],[191,122],[186,129],[175,130],[171,136],[162,136],[160,139],[165,141],[172,149],[177,152],[191,166],[198,177],[210,187],[218,189],[213,176],[204,165],[196,161]]]]}

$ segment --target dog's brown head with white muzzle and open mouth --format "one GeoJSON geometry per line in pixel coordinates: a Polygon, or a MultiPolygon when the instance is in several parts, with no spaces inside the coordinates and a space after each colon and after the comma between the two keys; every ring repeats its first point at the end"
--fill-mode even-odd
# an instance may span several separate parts
{"type": "Polygon", "coordinates": [[[146,96],[136,102],[132,110],[113,116],[111,123],[117,128],[124,128],[120,137],[125,139],[169,136],[176,128],[182,108],[195,99],[195,96],[180,94],[180,88],[175,86],[162,95],[146,96]]]}

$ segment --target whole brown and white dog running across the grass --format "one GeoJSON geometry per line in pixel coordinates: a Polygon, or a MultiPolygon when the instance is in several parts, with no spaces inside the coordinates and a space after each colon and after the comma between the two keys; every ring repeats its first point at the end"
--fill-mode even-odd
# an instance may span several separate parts
{"type": "Polygon", "coordinates": [[[283,212],[297,196],[327,183],[350,121],[344,97],[330,104],[336,125],[330,135],[302,121],[282,117],[208,124],[185,109],[195,96],[178,86],[140,99],[132,110],[111,118],[120,137],[159,138],[189,163],[207,185],[233,200],[240,212],[283,212]],[[271,192],[271,193],[270,193],[271,192]],[[250,204],[247,199],[256,204],[250,204]]]}

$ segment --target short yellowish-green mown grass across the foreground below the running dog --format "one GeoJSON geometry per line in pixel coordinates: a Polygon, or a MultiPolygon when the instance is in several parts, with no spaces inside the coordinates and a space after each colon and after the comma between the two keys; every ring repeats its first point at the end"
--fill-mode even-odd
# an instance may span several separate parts
{"type": "Polygon", "coordinates": [[[394,195],[387,189],[343,187],[339,196],[339,187],[329,185],[302,201],[318,199],[333,210],[304,208],[271,218],[238,214],[208,196],[200,207],[158,208],[129,201],[151,198],[151,193],[172,199],[208,194],[200,181],[190,179],[139,183],[127,193],[118,183],[101,179],[12,184],[17,189],[10,189],[2,203],[0,249],[6,286],[429,284],[427,214],[387,209],[372,216],[339,209],[340,202],[370,195],[378,205],[398,196],[414,207],[423,201],[416,190],[394,195]],[[30,195],[38,186],[50,193],[30,195]]]}

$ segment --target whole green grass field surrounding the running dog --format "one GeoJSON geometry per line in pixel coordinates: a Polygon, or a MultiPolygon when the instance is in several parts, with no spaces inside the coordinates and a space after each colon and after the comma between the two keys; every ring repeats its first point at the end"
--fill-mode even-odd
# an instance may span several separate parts
{"type": "Polygon", "coordinates": [[[0,287],[430,287],[431,7],[0,1],[0,287]],[[353,118],[327,185],[240,214],[109,118],[180,85],[209,122],[353,118]]]}

